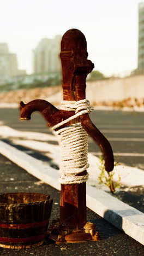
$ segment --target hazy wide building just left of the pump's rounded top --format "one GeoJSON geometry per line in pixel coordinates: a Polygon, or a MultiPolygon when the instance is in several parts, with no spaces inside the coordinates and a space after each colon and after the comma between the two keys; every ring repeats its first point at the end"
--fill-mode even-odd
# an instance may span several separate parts
{"type": "Polygon", "coordinates": [[[62,36],[53,39],[43,38],[37,48],[33,50],[33,72],[35,74],[47,72],[61,72],[61,51],[62,36]]]}

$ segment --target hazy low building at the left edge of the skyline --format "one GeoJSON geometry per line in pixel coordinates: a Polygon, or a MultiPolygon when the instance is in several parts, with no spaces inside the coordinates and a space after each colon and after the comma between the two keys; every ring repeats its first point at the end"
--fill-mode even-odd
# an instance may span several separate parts
{"type": "Polygon", "coordinates": [[[9,53],[8,44],[0,43],[0,84],[10,83],[11,80],[20,74],[26,74],[17,68],[17,56],[9,53]]]}

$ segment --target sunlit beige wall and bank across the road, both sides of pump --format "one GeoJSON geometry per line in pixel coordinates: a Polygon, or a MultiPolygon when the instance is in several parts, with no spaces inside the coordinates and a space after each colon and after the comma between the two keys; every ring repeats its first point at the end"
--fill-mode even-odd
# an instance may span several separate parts
{"type": "MultiPolygon", "coordinates": [[[[139,104],[144,106],[144,75],[99,80],[97,82],[87,82],[86,84],[86,98],[93,106],[98,104],[111,106],[111,104],[113,104],[112,102],[121,102],[124,99],[128,99],[129,103],[123,103],[123,106],[125,106],[125,104],[133,106],[137,104],[138,101],[139,104]],[[134,98],[137,98],[137,102],[134,98]],[[143,99],[141,100],[140,98],[143,99]]],[[[52,104],[59,105],[63,98],[62,86],[29,90],[22,89],[0,93],[0,103],[19,103],[21,100],[27,103],[36,98],[41,98],[52,104]]]]}

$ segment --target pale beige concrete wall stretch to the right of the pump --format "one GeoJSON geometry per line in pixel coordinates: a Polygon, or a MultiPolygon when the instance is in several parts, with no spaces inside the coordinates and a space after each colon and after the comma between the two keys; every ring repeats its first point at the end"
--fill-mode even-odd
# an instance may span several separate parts
{"type": "Polygon", "coordinates": [[[144,75],[87,82],[86,98],[91,101],[121,101],[144,97],[144,75]]]}

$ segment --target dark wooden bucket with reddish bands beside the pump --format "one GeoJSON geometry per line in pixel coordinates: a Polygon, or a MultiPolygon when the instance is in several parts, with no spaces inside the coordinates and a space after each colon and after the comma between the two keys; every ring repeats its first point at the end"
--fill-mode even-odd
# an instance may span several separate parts
{"type": "Polygon", "coordinates": [[[42,245],[52,208],[49,195],[0,195],[0,246],[21,249],[42,245]]]}

